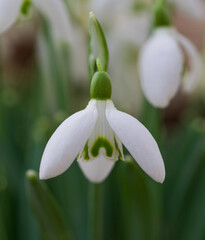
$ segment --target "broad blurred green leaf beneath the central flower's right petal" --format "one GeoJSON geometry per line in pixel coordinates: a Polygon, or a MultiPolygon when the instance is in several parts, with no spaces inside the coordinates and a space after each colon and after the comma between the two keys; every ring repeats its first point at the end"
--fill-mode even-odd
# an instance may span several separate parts
{"type": "Polygon", "coordinates": [[[162,186],[135,167],[134,161],[122,162],[118,173],[121,221],[125,228],[122,239],[159,239],[162,186]]]}

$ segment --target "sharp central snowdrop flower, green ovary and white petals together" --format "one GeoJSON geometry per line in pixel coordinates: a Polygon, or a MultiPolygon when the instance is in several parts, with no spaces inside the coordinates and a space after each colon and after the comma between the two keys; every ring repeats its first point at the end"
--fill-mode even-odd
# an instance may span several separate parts
{"type": "Polygon", "coordinates": [[[162,183],[165,169],[157,143],[140,122],[115,108],[106,72],[94,74],[90,92],[88,106],[67,118],[48,141],[41,160],[40,178],[63,173],[78,156],[84,175],[92,182],[102,182],[115,162],[124,159],[124,144],[140,167],[162,183]]]}

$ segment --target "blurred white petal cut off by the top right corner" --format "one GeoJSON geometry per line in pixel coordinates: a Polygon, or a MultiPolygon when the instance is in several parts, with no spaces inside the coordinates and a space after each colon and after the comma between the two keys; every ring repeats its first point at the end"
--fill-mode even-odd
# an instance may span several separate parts
{"type": "Polygon", "coordinates": [[[202,20],[205,19],[204,0],[169,0],[174,3],[181,11],[191,17],[202,20]]]}

